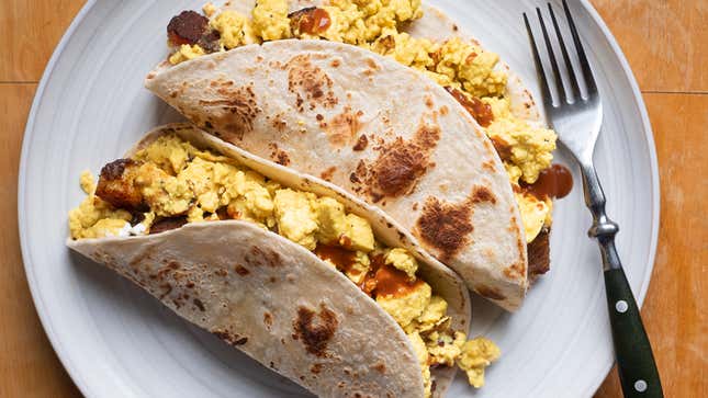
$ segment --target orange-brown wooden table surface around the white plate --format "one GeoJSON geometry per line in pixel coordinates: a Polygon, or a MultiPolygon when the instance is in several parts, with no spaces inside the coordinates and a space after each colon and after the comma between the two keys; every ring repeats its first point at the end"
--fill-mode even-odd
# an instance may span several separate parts
{"type": "MultiPolygon", "coordinates": [[[[0,397],[78,397],[34,310],[16,228],[24,125],[45,64],[82,0],[0,4],[0,397]]],[[[708,397],[708,7],[593,0],[642,89],[662,181],[659,252],[642,314],[667,397],[708,397]]],[[[613,372],[596,397],[621,396],[613,372]]]]}

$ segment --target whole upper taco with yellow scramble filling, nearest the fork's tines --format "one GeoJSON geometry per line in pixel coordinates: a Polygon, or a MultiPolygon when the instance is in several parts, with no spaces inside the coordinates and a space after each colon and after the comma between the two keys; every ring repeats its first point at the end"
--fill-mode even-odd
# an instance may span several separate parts
{"type": "Polygon", "coordinates": [[[495,54],[416,1],[203,12],[170,21],[172,53],[149,90],[215,136],[377,205],[470,288],[519,307],[549,268],[555,134],[495,54]]]}

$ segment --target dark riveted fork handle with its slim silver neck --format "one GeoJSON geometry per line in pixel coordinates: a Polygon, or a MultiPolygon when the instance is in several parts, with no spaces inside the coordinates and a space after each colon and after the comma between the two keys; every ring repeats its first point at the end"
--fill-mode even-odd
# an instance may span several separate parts
{"type": "Polygon", "coordinates": [[[625,397],[663,397],[661,379],[639,307],[615,248],[618,225],[605,214],[605,194],[592,163],[582,167],[585,202],[593,213],[588,235],[603,257],[615,359],[625,397]]]}

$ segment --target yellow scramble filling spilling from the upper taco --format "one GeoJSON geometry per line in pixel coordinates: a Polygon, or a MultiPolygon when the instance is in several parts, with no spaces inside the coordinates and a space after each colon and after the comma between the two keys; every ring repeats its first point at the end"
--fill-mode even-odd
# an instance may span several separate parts
{"type": "Polygon", "coordinates": [[[210,2],[202,11],[204,15],[184,11],[170,22],[170,64],[265,41],[322,38],[360,46],[422,71],[445,87],[494,143],[515,191],[527,242],[550,228],[552,197],[526,187],[551,166],[555,133],[513,114],[508,77],[497,67],[496,54],[460,37],[430,41],[401,32],[402,24],[423,15],[419,0],[329,0],[292,13],[286,0],[259,0],[250,15],[210,2]]]}

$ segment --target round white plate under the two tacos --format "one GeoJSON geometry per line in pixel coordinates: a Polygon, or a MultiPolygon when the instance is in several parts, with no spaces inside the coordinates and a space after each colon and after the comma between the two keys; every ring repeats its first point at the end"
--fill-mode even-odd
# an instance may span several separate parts
{"type": "MultiPolygon", "coordinates": [[[[165,26],[202,1],[89,1],[57,47],[37,90],[20,169],[22,251],[49,340],[89,397],[256,397],[304,394],[282,377],[202,332],[108,270],[69,253],[67,212],[82,198],[81,170],[94,172],[142,134],[178,120],[143,88],[166,52],[165,26]]],[[[521,12],[531,1],[435,1],[526,81],[535,81],[521,12]]],[[[558,4],[555,4],[558,5],[558,4]]],[[[605,102],[596,161],[608,213],[622,228],[618,250],[643,300],[659,226],[656,157],[634,79],[592,7],[576,4],[605,102]]],[[[533,84],[531,84],[533,86],[533,84]]],[[[557,156],[567,163],[562,151],[557,156]]],[[[459,376],[450,396],[586,397],[613,361],[600,260],[585,231],[577,171],[558,203],[552,271],[509,316],[481,299],[472,334],[504,356],[474,393],[459,376]]]]}

